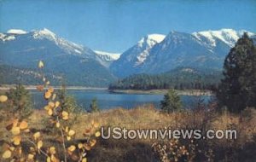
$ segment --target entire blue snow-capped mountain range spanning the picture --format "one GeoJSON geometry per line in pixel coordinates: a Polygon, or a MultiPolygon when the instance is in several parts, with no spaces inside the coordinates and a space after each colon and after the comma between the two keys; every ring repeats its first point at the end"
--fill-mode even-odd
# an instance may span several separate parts
{"type": "MultiPolygon", "coordinates": [[[[72,43],[48,29],[11,29],[0,33],[0,71],[6,78],[12,72],[18,72],[20,78],[32,73],[33,78],[38,75],[37,64],[42,60],[45,72],[55,78],[56,84],[106,87],[132,74],[157,74],[177,67],[221,70],[225,56],[244,32],[247,31],[221,29],[149,34],[124,53],[111,54],[72,43]]],[[[247,34],[256,40],[253,32],[247,34]]],[[[0,79],[0,84],[9,84],[10,79],[0,79]]],[[[25,84],[31,82],[26,80],[25,84]]]]}

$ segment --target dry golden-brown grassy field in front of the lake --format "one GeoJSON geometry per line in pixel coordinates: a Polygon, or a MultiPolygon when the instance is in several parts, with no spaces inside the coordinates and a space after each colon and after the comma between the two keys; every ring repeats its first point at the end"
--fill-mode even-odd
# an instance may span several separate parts
{"type": "MultiPolygon", "coordinates": [[[[131,110],[119,108],[100,113],[79,113],[76,117],[72,127],[77,132],[75,137],[78,141],[83,140],[83,132],[89,127],[92,120],[103,127],[119,126],[127,129],[225,130],[232,128],[238,132],[236,140],[195,140],[195,151],[189,153],[191,161],[253,161],[256,159],[255,109],[247,110],[240,115],[218,114],[205,110],[167,114],[154,109],[152,105],[145,105],[131,110]]],[[[30,130],[32,132],[39,130],[43,134],[44,140],[47,141],[45,142],[46,146],[54,145],[56,148],[60,148],[61,144],[54,141],[55,133],[45,126],[47,125],[45,121],[47,121],[47,114],[44,110],[35,110],[28,119],[30,130]]],[[[5,130],[8,123],[8,119],[1,119],[1,145],[9,141],[9,132],[5,130]]],[[[87,155],[88,161],[159,161],[160,153],[152,148],[155,142],[165,143],[168,140],[104,140],[99,138],[96,147],[91,149],[87,155]]],[[[178,140],[177,142],[178,146],[189,148],[190,140],[178,140]]],[[[27,145],[26,142],[22,144],[27,145]]],[[[1,149],[0,152],[3,151],[1,149]]]]}

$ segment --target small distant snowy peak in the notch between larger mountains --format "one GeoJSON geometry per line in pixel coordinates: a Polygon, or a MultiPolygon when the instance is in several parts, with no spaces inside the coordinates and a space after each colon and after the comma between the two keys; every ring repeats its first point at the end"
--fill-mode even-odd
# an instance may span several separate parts
{"type": "Polygon", "coordinates": [[[96,55],[98,55],[98,57],[100,58],[99,61],[105,67],[109,67],[113,61],[118,60],[120,57],[120,54],[117,53],[108,53],[99,50],[95,50],[94,52],[96,53],[96,55]]]}

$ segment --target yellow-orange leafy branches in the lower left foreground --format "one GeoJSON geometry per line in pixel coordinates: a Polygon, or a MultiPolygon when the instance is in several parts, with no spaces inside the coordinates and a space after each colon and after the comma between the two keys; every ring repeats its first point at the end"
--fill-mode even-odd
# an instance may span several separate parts
{"type": "MultiPolygon", "coordinates": [[[[44,62],[39,61],[38,67],[43,68],[44,62]]],[[[50,84],[49,80],[44,78],[44,75],[42,76],[42,80],[44,81],[43,85],[38,85],[37,90],[44,91],[50,84]]],[[[66,140],[70,141],[72,138],[75,137],[76,131],[69,128],[68,119],[72,118],[73,116],[67,111],[63,110],[61,107],[60,101],[55,101],[56,94],[54,93],[54,88],[49,87],[48,90],[46,89],[44,91],[44,99],[48,101],[48,104],[44,106],[44,109],[46,110],[47,114],[49,115],[49,122],[51,124],[55,124],[55,127],[60,130],[60,136],[58,136],[55,140],[62,143],[63,146],[63,154],[64,154],[64,160],[67,162],[67,156],[69,156],[70,159],[73,159],[74,161],[82,161],[87,162],[87,159],[85,157],[86,151],[90,150],[93,146],[96,145],[96,139],[90,138],[90,135],[95,135],[95,137],[98,137],[101,135],[99,131],[94,133],[93,131],[98,128],[99,124],[92,121],[90,125],[90,132],[88,135],[86,135],[87,142],[85,143],[79,143],[78,144],[78,152],[75,152],[77,149],[77,144],[73,144],[66,148],[66,140]]],[[[0,101],[5,102],[8,100],[8,97],[6,95],[0,95],[0,101]]],[[[6,144],[3,152],[3,159],[10,159],[13,158],[11,161],[38,161],[38,155],[44,155],[46,157],[47,162],[60,162],[60,159],[58,159],[57,152],[60,150],[56,150],[54,146],[49,146],[49,148],[44,145],[44,134],[41,135],[40,131],[37,131],[33,133],[31,136],[27,136],[23,133],[30,132],[28,128],[28,123],[25,120],[21,119],[13,119],[11,122],[6,126],[6,129],[9,130],[12,134],[12,139],[9,144],[6,144]],[[22,153],[22,145],[20,145],[21,140],[23,138],[27,139],[28,142],[32,143],[32,147],[29,147],[28,153],[22,153]],[[32,139],[30,139],[32,138],[32,139]],[[46,152],[44,152],[46,150],[46,152]],[[13,156],[13,157],[12,157],[13,156]]]]}

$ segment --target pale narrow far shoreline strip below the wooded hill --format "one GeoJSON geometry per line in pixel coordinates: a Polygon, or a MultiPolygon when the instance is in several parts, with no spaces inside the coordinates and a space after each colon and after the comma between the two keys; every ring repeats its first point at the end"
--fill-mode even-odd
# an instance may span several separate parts
{"type": "MultiPolygon", "coordinates": [[[[164,95],[168,90],[109,90],[119,94],[164,95]]],[[[211,90],[177,90],[178,95],[212,95],[211,90]]]]}

